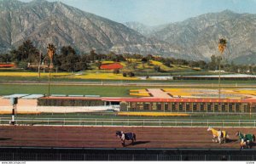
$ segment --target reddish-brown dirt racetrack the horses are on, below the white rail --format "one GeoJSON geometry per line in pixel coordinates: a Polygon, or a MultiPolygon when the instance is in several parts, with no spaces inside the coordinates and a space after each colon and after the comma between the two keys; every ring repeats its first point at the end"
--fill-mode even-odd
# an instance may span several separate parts
{"type": "MultiPolygon", "coordinates": [[[[127,148],[239,148],[237,130],[255,133],[255,128],[224,128],[230,142],[212,142],[207,127],[39,127],[2,126],[0,146],[18,147],[73,147],[73,148],[122,148],[115,131],[137,134],[137,141],[127,148]]],[[[256,149],[256,144],[253,146],[256,149]]]]}

